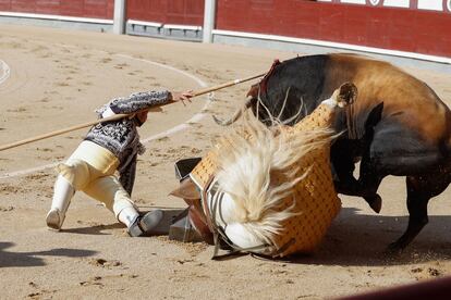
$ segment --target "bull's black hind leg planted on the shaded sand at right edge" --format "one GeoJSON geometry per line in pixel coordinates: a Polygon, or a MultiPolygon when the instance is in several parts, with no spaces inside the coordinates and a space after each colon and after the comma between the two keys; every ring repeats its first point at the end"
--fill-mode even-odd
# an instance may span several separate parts
{"type": "Polygon", "coordinates": [[[399,252],[403,250],[428,223],[427,203],[429,199],[441,193],[449,185],[446,175],[406,177],[409,225],[405,233],[389,245],[389,250],[399,252]]]}

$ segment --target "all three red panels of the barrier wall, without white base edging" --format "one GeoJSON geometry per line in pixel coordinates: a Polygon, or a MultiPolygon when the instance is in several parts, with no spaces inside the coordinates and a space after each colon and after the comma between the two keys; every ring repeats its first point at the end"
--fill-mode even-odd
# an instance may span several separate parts
{"type": "MultiPolygon", "coordinates": [[[[451,57],[451,11],[306,0],[217,0],[216,29],[451,57]]],[[[127,0],[127,18],[203,25],[204,0],[127,0]]],[[[375,3],[375,1],[371,1],[375,3]]],[[[383,2],[385,3],[385,2],[383,2]]],[[[392,2],[393,3],[393,2],[392,2]]],[[[0,11],[112,20],[114,0],[0,0],[0,11]]]]}

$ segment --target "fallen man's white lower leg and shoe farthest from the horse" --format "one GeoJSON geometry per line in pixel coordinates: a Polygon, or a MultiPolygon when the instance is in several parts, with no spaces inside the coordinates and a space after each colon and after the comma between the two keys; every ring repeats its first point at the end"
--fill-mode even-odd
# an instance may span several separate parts
{"type": "Polygon", "coordinates": [[[59,175],[53,188],[53,199],[50,211],[47,213],[46,222],[50,228],[60,230],[65,218],[71,199],[74,196],[74,188],[71,184],[59,175]]]}

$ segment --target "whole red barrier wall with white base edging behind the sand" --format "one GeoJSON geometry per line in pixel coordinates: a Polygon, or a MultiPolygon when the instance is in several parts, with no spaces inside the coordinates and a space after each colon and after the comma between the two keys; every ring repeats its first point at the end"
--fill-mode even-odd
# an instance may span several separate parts
{"type": "MultiPolygon", "coordinates": [[[[451,64],[451,0],[127,0],[126,33],[202,40],[207,2],[216,5],[215,42],[309,45],[451,64]]],[[[45,15],[112,26],[113,14],[114,0],[0,0],[3,21],[45,15]]]]}

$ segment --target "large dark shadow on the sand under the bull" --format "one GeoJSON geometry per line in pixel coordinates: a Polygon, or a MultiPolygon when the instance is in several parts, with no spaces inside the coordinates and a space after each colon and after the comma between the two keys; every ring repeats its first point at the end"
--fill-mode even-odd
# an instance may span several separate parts
{"type": "Polygon", "coordinates": [[[322,265],[399,265],[451,259],[449,227],[451,216],[429,216],[429,224],[402,253],[389,253],[387,247],[407,227],[407,216],[361,214],[343,208],[321,245],[310,255],[293,255],[291,263],[322,265]]]}

